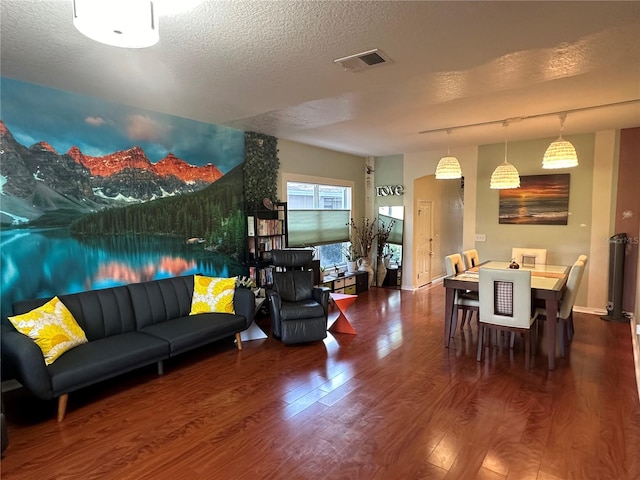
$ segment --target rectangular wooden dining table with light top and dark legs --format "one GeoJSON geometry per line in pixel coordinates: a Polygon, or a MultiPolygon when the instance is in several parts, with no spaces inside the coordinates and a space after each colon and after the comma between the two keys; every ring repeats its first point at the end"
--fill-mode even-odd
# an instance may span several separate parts
{"type": "MultiPolygon", "coordinates": [[[[444,278],[445,294],[445,319],[444,319],[444,346],[449,348],[451,340],[451,327],[453,325],[454,297],[456,290],[478,291],[479,269],[486,268],[510,268],[511,262],[489,260],[480,265],[444,278]]],[[[531,271],[531,292],[534,301],[544,302],[547,311],[547,352],[549,370],[555,368],[556,359],[556,329],[558,322],[558,304],[562,298],[567,276],[571,270],[567,265],[535,265],[532,267],[520,267],[531,271]]]]}

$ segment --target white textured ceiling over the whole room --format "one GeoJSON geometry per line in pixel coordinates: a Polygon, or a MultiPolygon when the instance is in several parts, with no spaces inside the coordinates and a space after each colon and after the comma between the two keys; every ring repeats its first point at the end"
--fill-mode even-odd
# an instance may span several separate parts
{"type": "MultiPolygon", "coordinates": [[[[557,136],[640,99],[640,2],[202,1],[127,50],[2,0],[3,76],[359,155],[557,136]],[[391,63],[333,60],[373,48],[391,63]]],[[[565,134],[640,126],[640,103],[565,134]]]]}

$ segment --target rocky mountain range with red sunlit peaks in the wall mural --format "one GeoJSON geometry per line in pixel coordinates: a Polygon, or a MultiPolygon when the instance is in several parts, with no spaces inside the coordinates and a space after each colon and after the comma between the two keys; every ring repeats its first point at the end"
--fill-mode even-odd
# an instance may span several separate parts
{"type": "Polygon", "coordinates": [[[52,211],[82,214],[182,195],[223,176],[215,165],[194,166],[171,153],[153,164],[137,146],[99,157],[75,146],[60,154],[46,141],[27,148],[2,120],[0,141],[0,223],[5,225],[29,223],[52,211]]]}

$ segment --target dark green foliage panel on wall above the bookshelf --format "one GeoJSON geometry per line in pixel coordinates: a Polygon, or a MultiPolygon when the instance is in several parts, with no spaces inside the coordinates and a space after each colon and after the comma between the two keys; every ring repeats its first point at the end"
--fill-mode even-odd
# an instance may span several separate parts
{"type": "Polygon", "coordinates": [[[244,195],[249,210],[265,198],[277,201],[278,139],[256,132],[244,134],[244,195]]]}

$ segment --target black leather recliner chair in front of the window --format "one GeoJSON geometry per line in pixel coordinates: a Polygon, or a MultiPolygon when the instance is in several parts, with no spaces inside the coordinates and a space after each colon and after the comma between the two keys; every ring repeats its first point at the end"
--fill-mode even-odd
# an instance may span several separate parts
{"type": "Polygon", "coordinates": [[[313,285],[311,250],[272,250],[273,289],[267,291],[273,335],[283,343],[305,343],[327,336],[329,289],[313,285]]]}

